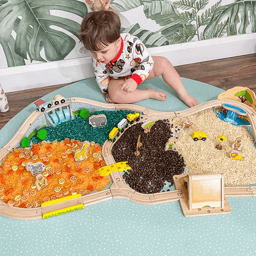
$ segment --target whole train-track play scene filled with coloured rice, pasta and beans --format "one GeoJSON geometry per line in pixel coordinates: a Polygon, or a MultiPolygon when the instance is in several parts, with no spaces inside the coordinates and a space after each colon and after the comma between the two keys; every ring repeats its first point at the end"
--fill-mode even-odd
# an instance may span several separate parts
{"type": "Polygon", "coordinates": [[[192,215],[229,213],[226,197],[256,193],[250,160],[256,158],[256,111],[245,103],[222,98],[175,112],[84,98],[36,103],[38,109],[0,150],[0,214],[5,217],[49,218],[112,198],[188,206],[188,188],[180,181],[188,174],[225,174],[225,207],[206,204],[192,215]],[[230,106],[246,116],[252,136],[215,114],[230,106]],[[193,139],[195,131],[203,131],[207,139],[193,139]],[[218,150],[221,135],[227,141],[218,150]],[[237,137],[242,137],[243,151],[236,161],[230,150],[237,137]]]}

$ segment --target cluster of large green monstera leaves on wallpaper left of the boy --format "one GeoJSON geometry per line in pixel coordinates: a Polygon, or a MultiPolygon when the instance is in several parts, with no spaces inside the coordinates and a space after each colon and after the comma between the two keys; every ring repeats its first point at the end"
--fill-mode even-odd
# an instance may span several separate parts
{"type": "Polygon", "coordinates": [[[74,49],[75,40],[55,28],[77,37],[80,24],[52,15],[51,10],[81,18],[87,14],[86,5],[76,0],[0,0],[0,44],[9,67],[25,65],[27,54],[31,61],[45,62],[63,60],[74,49]],[[40,55],[43,47],[46,60],[40,55]]]}

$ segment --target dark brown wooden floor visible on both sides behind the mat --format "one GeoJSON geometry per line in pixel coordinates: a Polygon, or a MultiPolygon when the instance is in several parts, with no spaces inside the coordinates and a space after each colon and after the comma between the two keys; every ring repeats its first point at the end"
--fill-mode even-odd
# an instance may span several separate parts
{"type": "MultiPolygon", "coordinates": [[[[223,90],[244,86],[256,93],[256,54],[198,62],[177,66],[175,69],[181,77],[211,84],[223,90]]],[[[68,84],[6,93],[10,110],[0,112],[0,129],[30,103],[66,85],[68,84]]]]}

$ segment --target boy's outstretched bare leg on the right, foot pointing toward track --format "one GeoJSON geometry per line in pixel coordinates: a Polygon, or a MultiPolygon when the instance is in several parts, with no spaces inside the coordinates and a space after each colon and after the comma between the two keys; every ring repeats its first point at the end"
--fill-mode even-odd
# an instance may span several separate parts
{"type": "Polygon", "coordinates": [[[147,79],[154,78],[155,76],[163,77],[164,81],[178,93],[179,98],[188,106],[194,107],[199,104],[193,96],[191,96],[185,89],[181,78],[171,62],[164,57],[153,56],[154,66],[153,70],[147,79]]]}

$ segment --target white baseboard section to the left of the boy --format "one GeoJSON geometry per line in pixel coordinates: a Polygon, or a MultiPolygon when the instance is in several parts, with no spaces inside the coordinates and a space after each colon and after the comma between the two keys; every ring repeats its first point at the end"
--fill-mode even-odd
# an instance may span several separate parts
{"type": "Polygon", "coordinates": [[[0,69],[5,92],[76,82],[93,77],[92,57],[0,69]]]}

